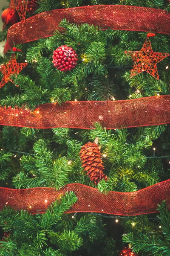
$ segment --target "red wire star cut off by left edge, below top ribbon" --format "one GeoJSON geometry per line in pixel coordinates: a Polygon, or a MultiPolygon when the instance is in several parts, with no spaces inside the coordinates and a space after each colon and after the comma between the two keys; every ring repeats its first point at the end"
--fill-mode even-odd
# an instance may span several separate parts
{"type": "Polygon", "coordinates": [[[16,58],[12,58],[7,64],[0,66],[0,71],[3,73],[3,78],[0,82],[0,88],[3,87],[8,81],[14,82],[11,79],[11,75],[17,75],[26,67],[28,63],[17,63],[16,58]]]}

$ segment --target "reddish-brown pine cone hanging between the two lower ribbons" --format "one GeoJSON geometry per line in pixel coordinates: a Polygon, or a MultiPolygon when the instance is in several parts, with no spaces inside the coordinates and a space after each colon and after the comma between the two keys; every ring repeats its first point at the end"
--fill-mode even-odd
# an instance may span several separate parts
{"type": "Polygon", "coordinates": [[[100,180],[108,180],[108,177],[102,171],[104,168],[102,162],[102,156],[99,146],[96,143],[88,142],[82,146],[79,153],[82,161],[82,167],[84,172],[87,171],[87,175],[94,184],[97,185],[100,180]]]}

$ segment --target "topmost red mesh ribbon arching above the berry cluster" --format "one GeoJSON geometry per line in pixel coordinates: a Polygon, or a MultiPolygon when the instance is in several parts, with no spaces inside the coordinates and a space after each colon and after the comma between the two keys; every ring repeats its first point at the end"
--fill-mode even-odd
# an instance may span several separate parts
{"type": "Polygon", "coordinates": [[[161,9],[138,6],[82,6],[42,12],[18,22],[8,29],[4,53],[14,44],[22,44],[53,35],[59,22],[66,18],[72,23],[88,23],[101,29],[120,29],[170,34],[170,13],[161,9]]]}

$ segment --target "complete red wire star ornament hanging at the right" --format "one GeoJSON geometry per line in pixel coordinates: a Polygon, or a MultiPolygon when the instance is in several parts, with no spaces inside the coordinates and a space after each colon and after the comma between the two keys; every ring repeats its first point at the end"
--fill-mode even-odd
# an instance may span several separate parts
{"type": "Polygon", "coordinates": [[[146,71],[151,76],[159,80],[159,74],[156,64],[162,61],[164,58],[168,57],[169,54],[162,52],[153,52],[149,39],[150,36],[155,36],[155,34],[147,34],[147,39],[144,42],[140,51],[125,51],[125,54],[132,57],[134,61],[130,77],[136,76],[139,73],[146,71]]]}

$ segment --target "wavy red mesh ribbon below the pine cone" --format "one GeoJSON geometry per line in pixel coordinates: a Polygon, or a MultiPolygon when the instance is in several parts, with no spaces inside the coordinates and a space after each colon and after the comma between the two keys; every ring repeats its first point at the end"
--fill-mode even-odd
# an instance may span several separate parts
{"type": "Polygon", "coordinates": [[[98,189],[79,183],[68,184],[56,191],[53,188],[8,189],[0,188],[0,209],[5,205],[25,209],[32,214],[44,213],[65,192],[73,191],[77,202],[68,212],[102,212],[114,215],[141,215],[157,212],[158,204],[166,200],[170,206],[170,179],[136,192],[102,194],[98,189]]]}

